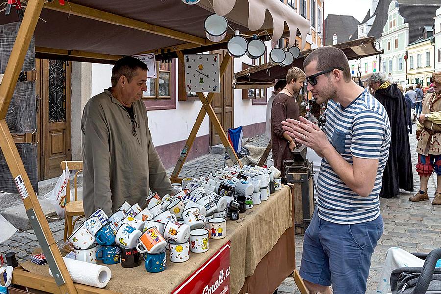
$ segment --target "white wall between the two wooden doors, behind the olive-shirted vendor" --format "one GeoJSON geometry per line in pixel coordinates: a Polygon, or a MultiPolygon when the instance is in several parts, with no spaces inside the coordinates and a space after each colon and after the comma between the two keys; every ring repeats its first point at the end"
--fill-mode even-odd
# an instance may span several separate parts
{"type": "MultiPolygon", "coordinates": [[[[177,63],[173,63],[177,66],[177,63]]],[[[111,86],[112,65],[92,64],[92,96],[111,86]]],[[[176,82],[176,93],[177,91],[176,82]]],[[[187,140],[202,106],[200,101],[177,101],[176,109],[147,111],[148,125],[155,146],[187,140]]],[[[209,133],[209,119],[205,117],[197,136],[209,133]]]]}

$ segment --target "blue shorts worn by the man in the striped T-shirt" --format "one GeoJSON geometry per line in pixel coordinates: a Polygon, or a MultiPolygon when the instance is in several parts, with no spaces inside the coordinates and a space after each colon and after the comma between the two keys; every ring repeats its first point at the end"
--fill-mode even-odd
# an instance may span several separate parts
{"type": "Polygon", "coordinates": [[[331,286],[334,294],[364,294],[370,258],[383,234],[381,215],[357,224],[337,224],[314,211],[303,241],[300,276],[331,286]]]}

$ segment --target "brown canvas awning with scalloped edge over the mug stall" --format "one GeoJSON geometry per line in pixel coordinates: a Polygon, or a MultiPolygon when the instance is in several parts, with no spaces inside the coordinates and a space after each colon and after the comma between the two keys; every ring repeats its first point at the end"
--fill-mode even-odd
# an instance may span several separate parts
{"type": "MultiPolygon", "coordinates": [[[[0,13],[0,25],[18,21],[14,10],[9,16],[0,13]]],[[[54,0],[45,3],[37,23],[36,54],[112,63],[122,55],[151,52],[161,59],[161,49],[171,54],[225,49],[232,29],[220,43],[205,36],[204,20],[214,11],[225,15],[230,26],[241,33],[266,29],[274,40],[284,34],[294,42],[298,29],[304,45],[310,29],[309,21],[279,0],[202,0],[197,5],[181,0],[72,0],[60,5],[54,0]]]]}

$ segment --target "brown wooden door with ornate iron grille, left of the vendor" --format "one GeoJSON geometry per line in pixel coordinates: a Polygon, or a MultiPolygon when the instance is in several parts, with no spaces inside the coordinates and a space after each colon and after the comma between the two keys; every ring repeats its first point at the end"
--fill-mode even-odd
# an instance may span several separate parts
{"type": "Polygon", "coordinates": [[[38,147],[40,178],[44,180],[59,176],[61,161],[71,160],[71,63],[40,59],[37,64],[36,90],[41,98],[37,101],[38,147]]]}

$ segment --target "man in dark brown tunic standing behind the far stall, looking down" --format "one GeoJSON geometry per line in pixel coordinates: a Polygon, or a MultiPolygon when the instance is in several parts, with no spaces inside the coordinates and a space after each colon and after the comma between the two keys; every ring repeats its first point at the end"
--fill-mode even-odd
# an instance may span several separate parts
{"type": "Polygon", "coordinates": [[[303,87],[305,73],[292,67],[286,75],[286,86],[274,97],[271,110],[271,139],[272,158],[274,166],[285,176],[283,160],[293,159],[292,151],[295,149],[295,142],[282,128],[282,122],[287,118],[299,119],[299,108],[296,98],[303,87]]]}

